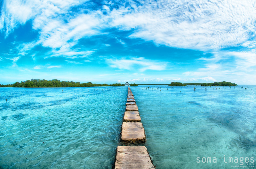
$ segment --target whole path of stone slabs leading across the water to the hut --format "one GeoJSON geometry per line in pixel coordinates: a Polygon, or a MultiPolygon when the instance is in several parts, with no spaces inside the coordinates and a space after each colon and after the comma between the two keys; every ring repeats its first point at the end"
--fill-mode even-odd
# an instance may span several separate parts
{"type": "MultiPolygon", "coordinates": [[[[121,141],[123,143],[145,143],[146,135],[142,126],[139,109],[130,87],[124,112],[121,141]]],[[[118,146],[116,149],[115,169],[155,168],[145,146],[118,146]]]]}

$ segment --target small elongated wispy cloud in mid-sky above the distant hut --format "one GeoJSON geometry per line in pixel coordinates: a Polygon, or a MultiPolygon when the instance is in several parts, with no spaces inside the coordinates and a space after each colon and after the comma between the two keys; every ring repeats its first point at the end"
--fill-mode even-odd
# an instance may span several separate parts
{"type": "Polygon", "coordinates": [[[165,70],[167,63],[145,59],[144,57],[131,57],[130,59],[106,59],[112,68],[140,71],[165,70]]]}

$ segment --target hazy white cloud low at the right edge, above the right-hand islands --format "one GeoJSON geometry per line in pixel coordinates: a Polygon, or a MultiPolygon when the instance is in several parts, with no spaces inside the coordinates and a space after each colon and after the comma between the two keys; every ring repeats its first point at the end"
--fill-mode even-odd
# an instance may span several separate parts
{"type": "Polygon", "coordinates": [[[214,81],[229,81],[238,84],[255,84],[256,81],[256,51],[250,52],[215,52],[210,58],[204,60],[205,67],[196,71],[187,71],[185,77],[211,76],[214,81]]]}

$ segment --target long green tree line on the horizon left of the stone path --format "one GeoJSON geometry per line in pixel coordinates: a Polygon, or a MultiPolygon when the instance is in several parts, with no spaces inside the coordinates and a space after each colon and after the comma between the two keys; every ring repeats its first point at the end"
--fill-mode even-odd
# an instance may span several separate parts
{"type": "Polygon", "coordinates": [[[93,84],[92,82],[80,83],[80,82],[69,82],[61,81],[58,79],[53,80],[40,80],[40,79],[31,79],[21,82],[16,82],[10,85],[0,85],[0,87],[96,87],[96,86],[125,86],[124,84],[115,83],[115,84],[93,84]]]}

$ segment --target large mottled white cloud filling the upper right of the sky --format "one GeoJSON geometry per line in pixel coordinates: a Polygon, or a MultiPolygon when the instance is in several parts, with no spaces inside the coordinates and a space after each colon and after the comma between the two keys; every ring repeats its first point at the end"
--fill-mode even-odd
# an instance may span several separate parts
{"type": "Polygon", "coordinates": [[[237,46],[255,33],[252,1],[140,1],[142,5],[113,10],[112,26],[132,30],[131,38],[153,40],[177,48],[209,50],[237,46]],[[236,4],[236,5],[234,5],[236,4]]]}

